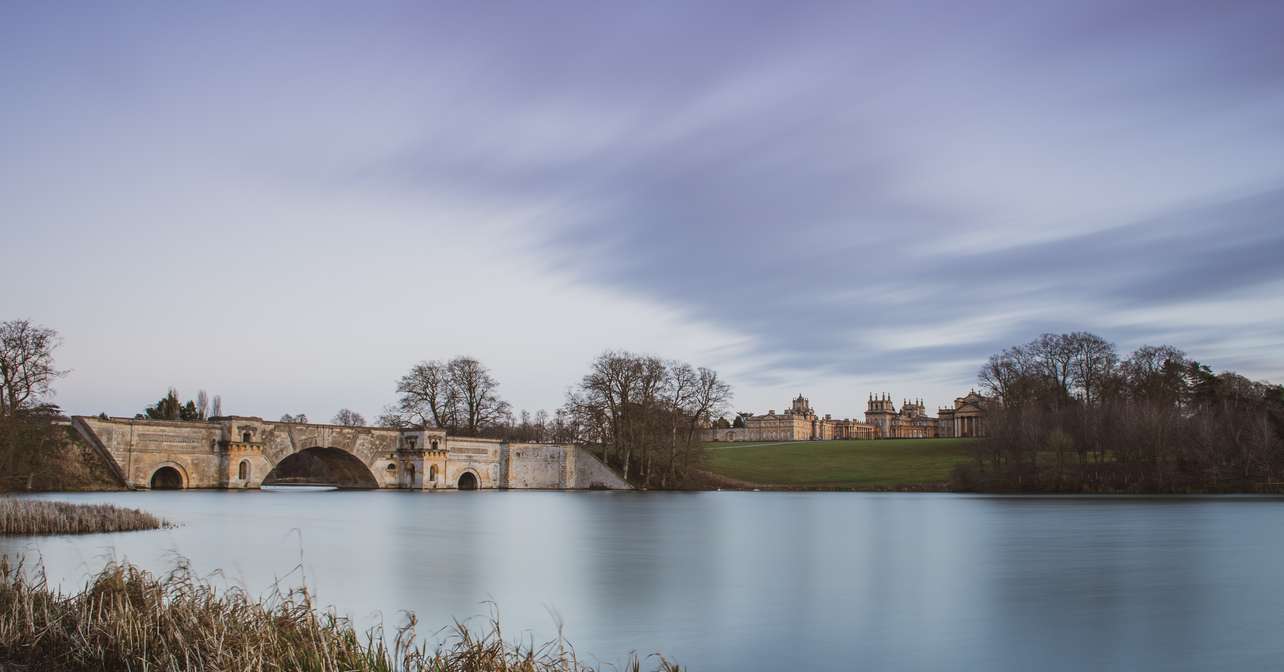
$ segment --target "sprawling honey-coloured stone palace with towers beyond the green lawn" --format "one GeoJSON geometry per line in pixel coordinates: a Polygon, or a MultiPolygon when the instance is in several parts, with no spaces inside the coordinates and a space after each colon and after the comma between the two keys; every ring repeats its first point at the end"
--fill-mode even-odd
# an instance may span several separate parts
{"type": "Polygon", "coordinates": [[[953,409],[940,409],[939,418],[927,415],[923,400],[901,400],[896,410],[890,394],[871,394],[865,420],[835,419],[811,410],[811,402],[799,394],[782,414],[743,415],[743,427],[714,424],[702,433],[704,441],[827,441],[854,438],[936,438],[984,437],[987,400],[976,391],[954,400],[953,409]]]}

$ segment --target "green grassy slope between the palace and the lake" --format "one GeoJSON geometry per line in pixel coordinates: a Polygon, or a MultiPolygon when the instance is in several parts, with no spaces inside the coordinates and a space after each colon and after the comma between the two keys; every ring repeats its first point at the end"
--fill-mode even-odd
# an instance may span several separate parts
{"type": "Polygon", "coordinates": [[[705,468],[763,486],[886,488],[944,483],[971,459],[967,438],[705,443],[705,468]]]}

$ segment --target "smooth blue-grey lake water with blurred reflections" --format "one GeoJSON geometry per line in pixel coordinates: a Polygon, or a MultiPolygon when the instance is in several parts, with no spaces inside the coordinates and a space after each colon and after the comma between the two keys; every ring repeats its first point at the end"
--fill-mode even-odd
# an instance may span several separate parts
{"type": "Polygon", "coordinates": [[[1284,500],[864,493],[139,492],[164,532],[0,540],[78,585],[173,555],[421,635],[494,600],[510,636],[692,669],[1278,669],[1284,500]]]}

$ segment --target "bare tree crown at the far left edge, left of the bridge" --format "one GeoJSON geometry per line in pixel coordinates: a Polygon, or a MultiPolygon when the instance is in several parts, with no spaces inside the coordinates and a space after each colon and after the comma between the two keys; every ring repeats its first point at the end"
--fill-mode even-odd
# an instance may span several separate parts
{"type": "Polygon", "coordinates": [[[27,320],[0,323],[0,416],[13,416],[53,394],[53,383],[67,375],[54,367],[58,332],[27,320]]]}

